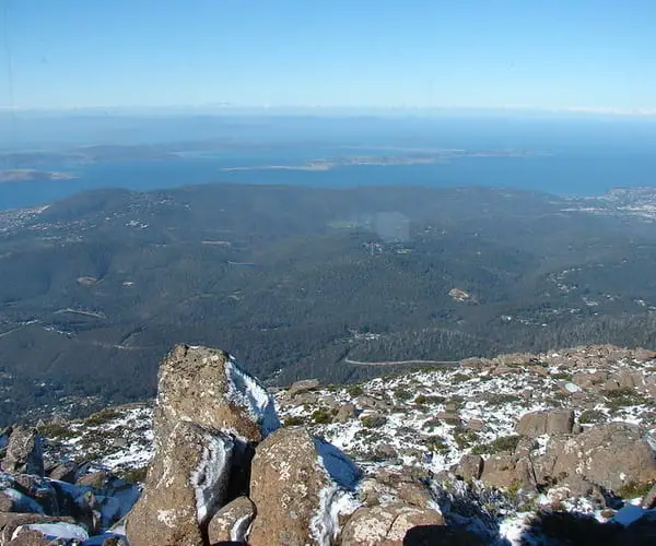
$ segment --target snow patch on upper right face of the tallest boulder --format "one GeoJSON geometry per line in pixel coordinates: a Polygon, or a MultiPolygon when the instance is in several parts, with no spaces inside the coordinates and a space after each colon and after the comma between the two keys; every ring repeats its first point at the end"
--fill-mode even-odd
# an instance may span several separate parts
{"type": "Polygon", "coordinates": [[[257,379],[238,367],[233,356],[225,360],[225,376],[229,379],[226,396],[245,407],[261,424],[265,436],[280,428],[273,397],[257,379]]]}

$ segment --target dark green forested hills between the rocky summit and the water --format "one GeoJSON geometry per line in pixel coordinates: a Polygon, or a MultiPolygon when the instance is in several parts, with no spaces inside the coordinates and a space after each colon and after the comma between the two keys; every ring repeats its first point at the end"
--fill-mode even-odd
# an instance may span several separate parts
{"type": "Polygon", "coordinates": [[[151,396],[178,342],[271,384],[654,345],[653,224],[504,189],[210,185],[0,214],[0,425],[151,396]],[[394,369],[394,367],[389,368],[394,369]]]}

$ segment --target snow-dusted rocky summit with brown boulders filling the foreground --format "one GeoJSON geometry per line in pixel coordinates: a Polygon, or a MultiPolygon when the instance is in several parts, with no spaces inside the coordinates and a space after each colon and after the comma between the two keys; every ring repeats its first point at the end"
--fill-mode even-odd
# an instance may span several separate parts
{"type": "Polygon", "coordinates": [[[153,404],[0,432],[0,546],[654,544],[656,353],[265,389],[178,345],[153,404]]]}

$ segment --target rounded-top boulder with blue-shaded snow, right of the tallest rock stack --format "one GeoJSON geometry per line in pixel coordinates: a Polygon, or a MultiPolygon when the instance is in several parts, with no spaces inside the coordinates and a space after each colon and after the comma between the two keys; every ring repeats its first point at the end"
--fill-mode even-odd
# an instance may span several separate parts
{"type": "Polygon", "coordinates": [[[273,432],[253,459],[250,499],[257,508],[248,541],[258,546],[327,544],[337,532],[331,505],[360,471],[305,427],[273,432]]]}

